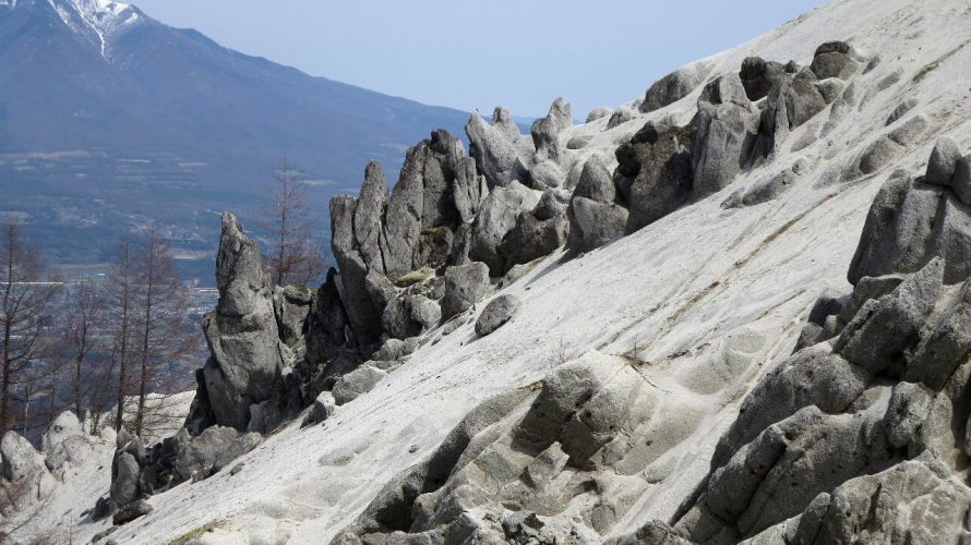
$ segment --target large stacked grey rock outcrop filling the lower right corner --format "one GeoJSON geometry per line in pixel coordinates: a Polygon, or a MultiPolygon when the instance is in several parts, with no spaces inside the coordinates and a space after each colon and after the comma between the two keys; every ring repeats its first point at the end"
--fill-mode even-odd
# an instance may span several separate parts
{"type": "MultiPolygon", "coordinates": [[[[932,179],[947,178],[947,147],[934,154],[932,179]]],[[[961,268],[963,253],[937,251],[923,234],[939,231],[927,218],[956,198],[926,185],[903,173],[885,184],[850,270],[853,293],[820,299],[806,348],[748,393],[708,477],[674,517],[679,538],[942,543],[967,535],[971,491],[952,475],[969,448],[971,271],[961,268]],[[947,500],[927,524],[897,522],[928,513],[933,497],[947,500]]],[[[963,227],[951,228],[960,237],[949,247],[971,247],[963,238],[971,218],[958,213],[950,225],[963,227]]]]}

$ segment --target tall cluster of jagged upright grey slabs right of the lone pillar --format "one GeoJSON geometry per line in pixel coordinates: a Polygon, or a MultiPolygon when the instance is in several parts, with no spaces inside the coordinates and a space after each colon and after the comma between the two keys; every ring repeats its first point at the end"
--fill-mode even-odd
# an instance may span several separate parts
{"type": "MultiPolygon", "coordinates": [[[[511,137],[508,126],[493,131],[482,123],[499,141],[511,137]]],[[[361,351],[371,350],[383,334],[415,335],[410,307],[396,301],[388,284],[407,283],[416,270],[442,270],[468,259],[471,222],[489,195],[485,180],[458,138],[435,131],[409,149],[389,197],[380,167],[372,164],[357,199],[332,201],[332,247],[340,267],[335,283],[361,351]]],[[[428,314],[422,316],[419,322],[430,326],[428,314]]]]}

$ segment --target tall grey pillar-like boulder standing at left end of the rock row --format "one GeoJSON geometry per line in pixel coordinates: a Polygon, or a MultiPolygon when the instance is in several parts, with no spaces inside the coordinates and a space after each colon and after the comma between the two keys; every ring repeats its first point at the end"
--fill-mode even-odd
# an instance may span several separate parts
{"type": "Polygon", "coordinates": [[[216,424],[245,429],[250,405],[273,396],[283,361],[260,249],[231,214],[223,216],[216,280],[219,302],[203,320],[207,397],[216,424]]]}

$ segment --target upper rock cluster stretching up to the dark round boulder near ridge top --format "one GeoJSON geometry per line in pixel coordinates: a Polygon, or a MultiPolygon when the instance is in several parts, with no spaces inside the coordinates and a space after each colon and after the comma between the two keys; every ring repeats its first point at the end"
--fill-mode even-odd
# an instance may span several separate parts
{"type": "MultiPolygon", "coordinates": [[[[853,76],[862,62],[842,43],[820,46],[815,59],[823,76],[794,62],[783,65],[757,57],[746,58],[738,74],[718,75],[702,89],[697,114],[688,124],[676,126],[671,119],[648,121],[616,149],[612,187],[603,182],[602,166],[596,158],[589,159],[589,171],[584,167],[583,172],[596,182],[580,183],[574,190],[567,211],[567,247],[586,252],[638,231],[693,201],[720,192],[741,172],[762,166],[792,130],[843,96],[848,89],[844,80],[853,76]],[[590,187],[598,191],[591,193],[590,187]]],[[[662,78],[648,92],[642,111],[683,98],[707,73],[706,64],[697,63],[662,78]]],[[[609,126],[630,119],[612,120],[609,126]]],[[[913,131],[898,129],[896,140],[889,142],[899,146],[903,133],[913,131]]],[[[772,199],[789,189],[796,174],[793,167],[763,177],[726,199],[723,206],[738,208],[772,199]]]]}

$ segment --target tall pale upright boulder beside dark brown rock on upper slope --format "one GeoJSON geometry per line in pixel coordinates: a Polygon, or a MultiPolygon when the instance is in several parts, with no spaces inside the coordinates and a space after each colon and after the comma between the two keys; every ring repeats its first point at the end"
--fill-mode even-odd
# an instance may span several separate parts
{"type": "Polygon", "coordinates": [[[692,146],[694,193],[704,197],[732,182],[744,162],[746,145],[757,133],[759,114],[738,74],[709,83],[698,99],[692,146]]]}

